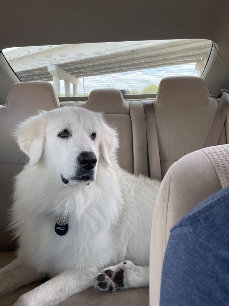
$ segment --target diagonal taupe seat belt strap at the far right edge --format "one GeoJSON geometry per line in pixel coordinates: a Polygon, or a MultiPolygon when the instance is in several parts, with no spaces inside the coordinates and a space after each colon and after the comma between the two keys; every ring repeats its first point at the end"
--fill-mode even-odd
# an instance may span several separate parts
{"type": "Polygon", "coordinates": [[[204,147],[216,146],[220,139],[220,134],[222,132],[224,122],[227,118],[227,112],[229,109],[229,91],[226,89],[221,89],[222,96],[220,102],[216,109],[216,114],[213,119],[211,128],[208,133],[204,147]]]}

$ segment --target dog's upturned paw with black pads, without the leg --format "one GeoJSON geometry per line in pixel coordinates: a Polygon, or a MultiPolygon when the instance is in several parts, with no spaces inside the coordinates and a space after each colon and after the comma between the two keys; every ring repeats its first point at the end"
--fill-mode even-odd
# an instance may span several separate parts
{"type": "Polygon", "coordinates": [[[117,289],[127,289],[128,272],[135,267],[130,260],[123,261],[116,266],[107,267],[100,271],[94,278],[94,286],[102,291],[116,291],[117,289]]]}

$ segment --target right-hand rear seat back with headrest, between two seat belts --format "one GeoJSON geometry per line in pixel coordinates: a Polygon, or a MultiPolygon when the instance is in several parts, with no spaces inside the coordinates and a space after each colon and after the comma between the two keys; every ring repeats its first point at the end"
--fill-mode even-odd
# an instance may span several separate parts
{"type": "MultiPolygon", "coordinates": [[[[218,101],[209,98],[203,79],[173,76],[161,80],[153,104],[163,178],[174,162],[204,147],[218,101]]],[[[226,143],[223,128],[218,144],[226,143]]]]}

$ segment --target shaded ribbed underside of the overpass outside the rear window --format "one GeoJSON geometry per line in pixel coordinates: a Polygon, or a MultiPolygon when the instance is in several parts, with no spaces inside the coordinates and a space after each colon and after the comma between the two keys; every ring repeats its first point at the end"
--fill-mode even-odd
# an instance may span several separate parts
{"type": "MultiPolygon", "coordinates": [[[[204,68],[202,63],[208,57],[210,47],[211,42],[204,39],[198,39],[195,42],[193,42],[193,39],[178,40],[135,50],[112,54],[107,53],[107,55],[52,65],[57,67],[56,70],[61,72],[60,75],[58,75],[58,72],[56,72],[55,75],[50,72],[49,66],[16,71],[16,73],[22,81],[54,82],[55,76],[55,84],[57,84],[58,78],[60,80],[64,79],[66,80],[66,84],[67,82],[75,84],[74,95],[76,95],[78,78],[81,77],[122,73],[188,63],[196,63],[196,69],[199,71],[199,74],[201,74],[204,68]],[[65,78],[63,73],[66,76],[65,78]]],[[[56,89],[59,91],[58,88],[56,89]]]]}

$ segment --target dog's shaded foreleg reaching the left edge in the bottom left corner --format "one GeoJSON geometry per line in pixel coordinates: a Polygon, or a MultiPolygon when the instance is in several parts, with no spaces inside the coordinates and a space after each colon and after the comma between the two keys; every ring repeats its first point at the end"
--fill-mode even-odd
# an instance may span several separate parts
{"type": "Polygon", "coordinates": [[[35,282],[42,277],[42,274],[35,272],[32,267],[16,258],[0,269],[0,296],[31,284],[31,282],[35,282]]]}

